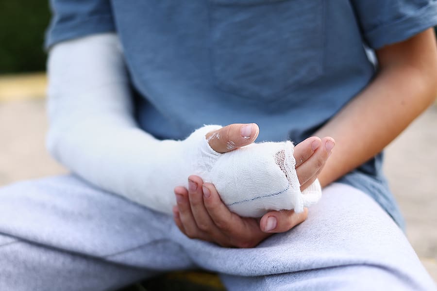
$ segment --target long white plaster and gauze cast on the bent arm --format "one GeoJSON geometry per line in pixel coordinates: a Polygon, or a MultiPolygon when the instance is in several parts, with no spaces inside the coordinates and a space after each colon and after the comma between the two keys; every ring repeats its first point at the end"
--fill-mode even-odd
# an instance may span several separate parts
{"type": "Polygon", "coordinates": [[[241,163],[247,156],[235,162],[239,152],[244,155],[242,150],[218,154],[209,147],[205,134],[220,126],[205,126],[184,141],[159,141],[139,129],[116,34],[98,34],[55,45],[49,54],[48,74],[49,151],[74,173],[104,190],[166,213],[171,213],[176,204],[173,188],[186,185],[189,175],[213,182],[231,210],[244,216],[260,216],[269,209],[301,211],[303,206],[318,200],[318,183],[314,189],[310,187],[312,196],[301,194],[299,184],[296,186],[290,143],[247,147],[245,154],[256,157],[249,165],[241,163]],[[273,156],[278,151],[291,159],[287,176],[283,175],[284,167],[271,162],[275,163],[273,156]],[[270,167],[263,165],[258,152],[269,155],[270,167]],[[252,166],[257,166],[253,169],[256,175],[247,178],[252,166]],[[266,174],[270,169],[276,174],[266,174]],[[233,179],[224,177],[226,172],[233,179]],[[266,175],[281,177],[263,190],[260,185],[266,188],[266,175]],[[229,181],[240,182],[234,187],[229,181]],[[265,201],[260,204],[261,200],[265,201]]]}

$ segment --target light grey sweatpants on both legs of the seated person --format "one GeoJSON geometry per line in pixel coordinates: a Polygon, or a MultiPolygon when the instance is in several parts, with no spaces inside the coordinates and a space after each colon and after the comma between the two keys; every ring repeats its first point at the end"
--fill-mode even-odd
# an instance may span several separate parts
{"type": "Polygon", "coordinates": [[[436,290],[368,195],[325,188],[308,219],[252,249],[191,240],[160,214],[61,176],[0,189],[0,290],[116,290],[203,268],[229,290],[436,290]]]}

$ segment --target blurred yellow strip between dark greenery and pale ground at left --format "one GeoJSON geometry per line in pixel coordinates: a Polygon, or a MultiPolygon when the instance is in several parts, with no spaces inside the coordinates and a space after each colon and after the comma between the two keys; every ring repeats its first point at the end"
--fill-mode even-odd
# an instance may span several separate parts
{"type": "Polygon", "coordinates": [[[46,86],[44,72],[0,76],[0,102],[44,98],[46,86]]]}

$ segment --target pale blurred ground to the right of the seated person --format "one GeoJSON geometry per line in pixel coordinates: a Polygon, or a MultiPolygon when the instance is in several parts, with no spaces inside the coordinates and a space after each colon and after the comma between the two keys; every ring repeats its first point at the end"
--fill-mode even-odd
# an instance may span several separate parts
{"type": "Polygon", "coordinates": [[[407,237],[437,282],[437,103],[386,150],[386,174],[407,237]]]}

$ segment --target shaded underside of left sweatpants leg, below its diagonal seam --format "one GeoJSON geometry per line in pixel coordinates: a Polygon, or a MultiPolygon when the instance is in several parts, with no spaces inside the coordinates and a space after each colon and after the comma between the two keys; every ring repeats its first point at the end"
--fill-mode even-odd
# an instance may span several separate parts
{"type": "Polygon", "coordinates": [[[0,290],[116,290],[151,275],[0,234],[0,290]]]}

